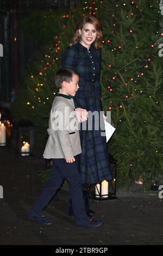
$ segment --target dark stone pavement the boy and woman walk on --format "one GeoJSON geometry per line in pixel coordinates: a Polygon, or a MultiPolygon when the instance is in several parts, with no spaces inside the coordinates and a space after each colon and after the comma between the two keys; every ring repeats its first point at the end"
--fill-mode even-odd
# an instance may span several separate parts
{"type": "Polygon", "coordinates": [[[69,193],[58,191],[44,214],[52,225],[28,220],[27,211],[40,193],[38,171],[45,162],[41,155],[18,157],[9,147],[0,148],[0,245],[162,245],[163,199],[158,191],[142,194],[141,185],[119,190],[117,199],[91,202],[97,228],[78,228],[68,217],[69,193]]]}

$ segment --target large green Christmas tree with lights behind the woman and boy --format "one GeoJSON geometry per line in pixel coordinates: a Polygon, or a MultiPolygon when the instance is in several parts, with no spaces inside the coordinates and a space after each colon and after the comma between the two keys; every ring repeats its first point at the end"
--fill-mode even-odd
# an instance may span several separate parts
{"type": "Polygon", "coordinates": [[[118,163],[117,181],[129,184],[141,175],[146,185],[162,173],[163,163],[158,1],[83,2],[83,6],[61,16],[60,35],[42,50],[40,59],[24,76],[24,86],[21,84],[17,91],[15,119],[32,120],[45,143],[56,93],[54,74],[83,14],[97,17],[103,25],[102,103],[105,111],[111,111],[111,123],[116,127],[108,150],[118,163]],[[66,19],[64,25],[62,19],[66,19]],[[20,107],[23,114],[18,111],[20,107]]]}

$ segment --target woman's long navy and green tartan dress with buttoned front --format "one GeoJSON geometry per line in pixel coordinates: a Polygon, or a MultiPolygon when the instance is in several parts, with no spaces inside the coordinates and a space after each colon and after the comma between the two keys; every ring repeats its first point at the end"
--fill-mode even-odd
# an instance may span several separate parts
{"type": "MultiPolygon", "coordinates": [[[[85,108],[87,111],[102,111],[101,87],[99,85],[101,54],[91,45],[89,51],[77,42],[66,48],[61,68],[76,70],[79,75],[79,89],[74,96],[75,107],[85,108]]],[[[103,120],[103,117],[101,118],[103,120]]],[[[81,124],[80,142],[82,154],[79,155],[79,173],[82,182],[86,184],[98,183],[111,179],[106,137],[101,136],[103,129],[95,130],[93,121],[92,130],[88,130],[88,121],[81,124]],[[82,124],[86,122],[86,130],[82,124]]]]}

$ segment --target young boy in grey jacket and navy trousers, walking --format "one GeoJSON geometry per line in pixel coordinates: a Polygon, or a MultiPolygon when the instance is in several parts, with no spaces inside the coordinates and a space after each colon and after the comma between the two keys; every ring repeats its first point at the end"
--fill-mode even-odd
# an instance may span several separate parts
{"type": "Polygon", "coordinates": [[[83,203],[82,183],[77,169],[77,158],[82,153],[74,96],[79,88],[79,75],[72,69],[60,69],[56,74],[55,84],[59,93],[53,101],[49,117],[48,141],[43,157],[53,159],[51,176],[29,211],[29,218],[41,224],[52,224],[42,218],[42,210],[52,199],[62,181],[67,179],[77,227],[98,227],[100,221],[90,220],[83,203]],[[77,128],[76,128],[77,126],[77,128]]]}

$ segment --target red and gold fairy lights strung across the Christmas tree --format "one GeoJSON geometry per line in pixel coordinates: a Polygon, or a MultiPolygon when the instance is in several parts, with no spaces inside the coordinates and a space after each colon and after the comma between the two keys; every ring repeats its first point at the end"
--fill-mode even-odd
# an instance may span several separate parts
{"type": "MultiPolygon", "coordinates": [[[[96,1],[96,2],[98,2],[98,4],[103,4],[104,3],[104,1],[96,1]]],[[[83,7],[84,14],[86,13],[86,14],[90,14],[90,15],[96,17],[96,14],[98,13],[98,9],[99,9],[98,8],[99,5],[97,6],[96,2],[93,1],[92,4],[90,5],[88,2],[85,1],[84,2],[84,7],[83,7]]],[[[126,8],[128,4],[130,4],[130,6],[132,8],[132,11],[130,13],[130,16],[129,15],[126,16],[127,19],[134,18],[134,16],[137,15],[138,12],[139,12],[139,14],[141,14],[142,9],[140,9],[139,5],[137,5],[134,1],[128,1],[128,3],[123,3],[122,1],[119,1],[119,3],[115,3],[114,8],[123,9],[123,8],[126,8]]],[[[152,5],[150,5],[150,8],[152,8],[152,5]]],[[[158,10],[158,14],[160,14],[159,10],[158,10]]],[[[69,16],[68,16],[68,14],[65,14],[65,15],[62,15],[61,18],[62,19],[68,19],[69,16]]],[[[154,19],[153,22],[156,22],[156,20],[154,19]]],[[[118,51],[123,55],[122,45],[117,45],[117,46],[112,45],[112,35],[114,33],[116,33],[116,29],[117,29],[116,15],[115,15],[115,13],[112,13],[112,29],[109,33],[110,36],[109,36],[109,38],[107,36],[106,39],[103,40],[103,44],[106,45],[106,47],[108,47],[109,51],[115,52],[115,54],[118,51]]],[[[136,33],[137,32],[134,31],[134,29],[132,27],[129,27],[128,35],[134,36],[134,35],[136,35],[136,33]]],[[[163,32],[160,33],[159,31],[156,31],[156,34],[158,36],[160,36],[160,35],[163,36],[163,32]]],[[[43,68],[42,68],[42,70],[39,71],[39,78],[42,78],[42,82],[38,82],[38,83],[34,82],[34,84],[36,85],[35,86],[35,93],[36,94],[38,94],[40,92],[40,89],[45,85],[46,75],[47,75],[48,69],[53,68],[53,65],[55,65],[55,63],[57,63],[57,61],[59,60],[60,42],[61,42],[60,41],[60,36],[56,35],[56,36],[54,36],[54,38],[55,38],[54,46],[53,46],[53,48],[52,47],[49,48],[49,50],[51,50],[52,54],[50,54],[50,55],[45,54],[45,60],[41,60],[41,64],[42,64],[43,68]]],[[[134,96],[134,92],[130,93],[130,95],[127,94],[127,93],[124,94],[124,100],[121,100],[121,103],[117,106],[114,106],[114,101],[111,99],[111,95],[114,93],[114,87],[116,86],[117,81],[121,80],[125,87],[129,87],[131,83],[139,83],[139,78],[147,75],[146,70],[149,69],[150,65],[152,64],[152,60],[153,60],[152,54],[153,54],[153,50],[155,50],[155,48],[156,48],[155,47],[156,44],[159,44],[159,42],[157,42],[157,43],[152,42],[151,45],[148,45],[148,48],[149,48],[148,56],[147,56],[146,59],[140,59],[141,68],[136,69],[136,71],[139,72],[139,73],[137,74],[135,72],[135,75],[130,77],[129,80],[122,80],[121,77],[120,77],[120,74],[118,74],[118,72],[116,70],[116,67],[114,67],[112,62],[109,61],[109,63],[107,64],[107,68],[112,70],[112,75],[110,77],[108,77],[108,84],[106,84],[106,90],[108,91],[109,98],[110,98],[109,101],[108,101],[108,104],[109,104],[108,110],[109,111],[114,110],[116,108],[123,109],[123,101],[124,100],[129,100],[130,97],[134,96]]],[[[139,49],[139,46],[136,46],[136,50],[137,49],[139,49]]],[[[128,71],[127,68],[125,68],[124,71],[127,72],[128,71]]],[[[124,76],[125,76],[125,72],[123,72],[124,76]]],[[[36,76],[34,76],[32,74],[31,75],[32,80],[37,81],[38,80],[37,76],[38,76],[38,74],[36,74],[36,76]]],[[[146,87],[148,87],[148,84],[146,84],[146,87]]],[[[135,88],[134,90],[136,92],[137,89],[135,88]]],[[[140,93],[143,93],[143,89],[140,89],[140,93]]],[[[55,95],[55,92],[53,92],[53,95],[55,95]]],[[[46,105],[47,103],[49,104],[49,98],[50,97],[52,97],[52,95],[51,96],[46,96],[44,98],[42,98],[40,95],[39,96],[34,95],[34,98],[37,99],[37,101],[39,101],[39,103],[42,103],[43,105],[46,105]]],[[[149,95],[149,98],[152,99],[152,95],[149,95]]],[[[156,101],[156,104],[158,104],[158,101],[156,101]]],[[[32,109],[35,108],[34,104],[31,103],[30,101],[27,102],[27,105],[32,109]]],[[[119,121],[121,122],[121,119],[119,121]]],[[[146,123],[147,120],[144,120],[144,122],[146,123]]],[[[163,155],[163,153],[160,153],[158,150],[156,150],[155,153],[159,154],[159,155],[163,155]]],[[[137,161],[139,161],[139,159],[137,159],[137,161]]],[[[133,165],[133,163],[129,163],[129,164],[130,164],[130,166],[133,165]]]]}

